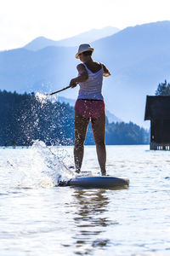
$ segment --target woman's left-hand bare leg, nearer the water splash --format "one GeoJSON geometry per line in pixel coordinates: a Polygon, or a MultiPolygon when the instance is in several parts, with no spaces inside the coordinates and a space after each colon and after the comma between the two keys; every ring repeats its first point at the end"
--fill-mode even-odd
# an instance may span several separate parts
{"type": "Polygon", "coordinates": [[[84,141],[88,130],[89,119],[82,117],[82,115],[75,113],[75,147],[74,160],[76,172],[80,172],[82,166],[82,159],[84,154],[84,141]]]}

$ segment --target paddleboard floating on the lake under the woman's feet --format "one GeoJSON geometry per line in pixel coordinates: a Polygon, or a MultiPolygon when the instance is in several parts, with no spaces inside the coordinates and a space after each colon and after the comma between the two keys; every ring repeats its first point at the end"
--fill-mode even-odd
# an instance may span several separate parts
{"type": "Polygon", "coordinates": [[[73,186],[82,188],[103,188],[114,189],[116,187],[128,186],[129,180],[127,177],[112,177],[112,176],[77,176],[71,178],[66,183],[59,183],[60,186],[73,186]]]}

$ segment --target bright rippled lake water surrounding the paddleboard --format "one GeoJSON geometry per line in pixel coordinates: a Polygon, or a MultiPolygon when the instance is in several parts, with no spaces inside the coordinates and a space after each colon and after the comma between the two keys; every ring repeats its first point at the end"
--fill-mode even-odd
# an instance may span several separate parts
{"type": "MultiPolygon", "coordinates": [[[[72,147],[0,148],[0,255],[170,255],[170,152],[108,146],[128,189],[55,187],[72,147]]],[[[94,146],[82,170],[99,173],[94,146]]]]}

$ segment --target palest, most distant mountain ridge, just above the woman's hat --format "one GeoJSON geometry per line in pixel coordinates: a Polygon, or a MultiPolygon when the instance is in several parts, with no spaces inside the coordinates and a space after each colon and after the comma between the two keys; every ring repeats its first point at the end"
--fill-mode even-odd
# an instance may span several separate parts
{"type": "Polygon", "coordinates": [[[39,50],[48,46],[78,46],[79,44],[92,43],[100,38],[105,38],[119,32],[119,29],[113,26],[105,26],[102,29],[92,29],[83,32],[75,37],[54,41],[48,38],[39,37],[26,44],[25,49],[39,50]]]}

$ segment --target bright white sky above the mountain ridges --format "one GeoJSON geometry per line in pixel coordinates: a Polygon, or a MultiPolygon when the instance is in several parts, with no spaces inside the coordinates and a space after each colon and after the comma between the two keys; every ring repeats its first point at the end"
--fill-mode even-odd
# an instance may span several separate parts
{"type": "Polygon", "coordinates": [[[0,0],[0,50],[43,36],[59,40],[94,28],[170,20],[170,0],[0,0]]]}

